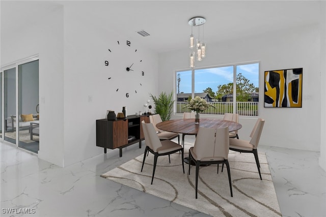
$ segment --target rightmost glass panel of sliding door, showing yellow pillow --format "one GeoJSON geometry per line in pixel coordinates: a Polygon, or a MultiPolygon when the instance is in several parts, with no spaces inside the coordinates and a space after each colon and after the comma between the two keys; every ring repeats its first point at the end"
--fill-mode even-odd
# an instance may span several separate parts
{"type": "Polygon", "coordinates": [[[39,150],[39,60],[18,65],[18,147],[39,150]]]}

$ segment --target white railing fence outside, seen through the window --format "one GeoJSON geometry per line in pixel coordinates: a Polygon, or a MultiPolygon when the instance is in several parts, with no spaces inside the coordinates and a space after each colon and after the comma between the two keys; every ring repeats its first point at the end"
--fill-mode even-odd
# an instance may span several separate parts
{"type": "MultiPolygon", "coordinates": [[[[176,113],[190,112],[187,102],[176,102],[176,113]]],[[[233,102],[209,102],[210,106],[201,114],[233,113],[233,102]]],[[[258,102],[236,102],[236,113],[239,115],[258,116],[258,102]]]]}

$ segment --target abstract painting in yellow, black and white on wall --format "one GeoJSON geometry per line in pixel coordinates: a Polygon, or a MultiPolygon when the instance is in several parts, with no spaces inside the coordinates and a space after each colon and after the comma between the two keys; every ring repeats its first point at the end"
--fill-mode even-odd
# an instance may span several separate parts
{"type": "Polygon", "coordinates": [[[264,107],[302,107],[303,68],[265,71],[264,107]]]}

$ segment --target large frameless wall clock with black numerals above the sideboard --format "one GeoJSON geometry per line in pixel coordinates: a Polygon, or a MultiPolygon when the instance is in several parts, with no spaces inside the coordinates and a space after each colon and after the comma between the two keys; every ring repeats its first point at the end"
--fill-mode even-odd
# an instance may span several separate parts
{"type": "Polygon", "coordinates": [[[129,40],[117,41],[107,49],[103,63],[107,67],[112,91],[123,93],[126,98],[135,96],[142,89],[145,71],[143,59],[129,40]]]}

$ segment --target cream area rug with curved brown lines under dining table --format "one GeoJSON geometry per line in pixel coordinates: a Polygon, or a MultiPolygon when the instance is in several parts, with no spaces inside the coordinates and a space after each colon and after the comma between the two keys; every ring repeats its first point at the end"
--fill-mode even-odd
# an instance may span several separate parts
{"type": "MultiPolygon", "coordinates": [[[[185,145],[185,157],[189,145],[185,145]]],[[[172,201],[211,216],[282,216],[264,152],[259,152],[260,180],[254,155],[230,151],[229,164],[233,197],[230,195],[228,173],[222,165],[201,167],[199,170],[198,199],[195,198],[195,166],[188,164],[182,172],[181,154],[158,157],[153,184],[153,154],[144,155],[111,170],[102,177],[137,189],[147,194],[172,201]]]]}

